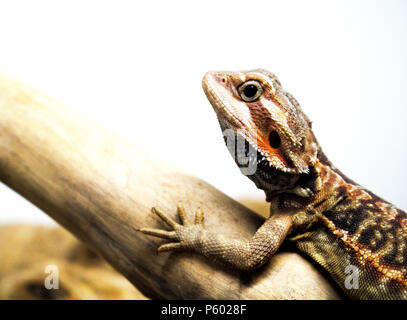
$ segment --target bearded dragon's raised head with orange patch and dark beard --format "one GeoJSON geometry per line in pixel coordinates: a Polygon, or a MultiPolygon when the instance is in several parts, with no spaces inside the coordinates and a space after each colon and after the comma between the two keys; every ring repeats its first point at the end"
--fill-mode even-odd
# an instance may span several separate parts
{"type": "Polygon", "coordinates": [[[267,198],[288,190],[302,197],[314,193],[299,185],[316,176],[318,144],[311,122],[274,74],[263,69],[208,72],[202,86],[222,131],[243,137],[246,153],[248,147],[255,150],[249,161],[257,168],[248,176],[267,198]]]}

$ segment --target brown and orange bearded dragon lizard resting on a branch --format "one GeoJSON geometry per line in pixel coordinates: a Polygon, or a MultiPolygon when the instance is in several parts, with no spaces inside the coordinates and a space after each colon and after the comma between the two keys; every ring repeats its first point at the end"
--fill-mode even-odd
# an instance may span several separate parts
{"type": "Polygon", "coordinates": [[[208,72],[202,86],[223,132],[243,141],[243,147],[235,148],[229,139],[228,149],[239,166],[246,157],[254,168],[247,176],[264,190],[271,215],[245,241],[204,229],[201,210],[191,223],[179,203],[179,224],[153,208],[172,229],[141,229],[171,241],[158,251],[192,250],[252,270],[288,239],[325,268],[350,298],[406,299],[407,214],[328,160],[311,121],[278,78],[263,69],[208,72]],[[357,288],[346,283],[349,267],[357,271],[357,288]]]}

